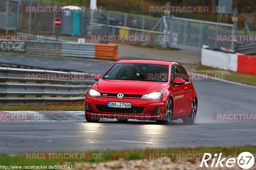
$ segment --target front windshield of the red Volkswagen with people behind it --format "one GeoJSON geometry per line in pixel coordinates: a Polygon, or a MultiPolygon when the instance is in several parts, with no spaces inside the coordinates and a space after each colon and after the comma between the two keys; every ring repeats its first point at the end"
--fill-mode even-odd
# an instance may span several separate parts
{"type": "Polygon", "coordinates": [[[116,63],[102,79],[166,82],[167,65],[116,63]]]}

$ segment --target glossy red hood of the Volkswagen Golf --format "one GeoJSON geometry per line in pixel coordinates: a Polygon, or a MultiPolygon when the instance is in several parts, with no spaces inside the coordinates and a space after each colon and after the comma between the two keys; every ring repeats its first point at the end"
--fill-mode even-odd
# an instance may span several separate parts
{"type": "Polygon", "coordinates": [[[167,82],[137,81],[137,80],[106,80],[100,79],[93,89],[100,93],[147,94],[160,91],[168,85],[167,82]]]}

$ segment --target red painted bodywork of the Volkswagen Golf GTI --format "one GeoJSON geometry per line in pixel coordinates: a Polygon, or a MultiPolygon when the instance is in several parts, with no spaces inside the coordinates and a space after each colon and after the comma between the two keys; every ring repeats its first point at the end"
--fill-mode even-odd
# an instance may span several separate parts
{"type": "MultiPolygon", "coordinates": [[[[171,75],[172,65],[180,65],[176,62],[154,61],[154,60],[121,60],[116,63],[146,63],[167,65],[168,74],[171,75]]],[[[115,65],[115,64],[114,64],[115,65]]],[[[114,66],[113,65],[113,66],[114,66]]],[[[112,66],[112,67],[113,67],[112,66]]],[[[109,69],[111,69],[110,67],[109,69]]],[[[183,67],[183,66],[182,66],[183,67]]],[[[183,67],[184,68],[184,67],[183,67]]],[[[108,70],[109,70],[108,69],[108,70]]],[[[106,71],[107,73],[108,71],[106,71]]],[[[187,71],[186,71],[187,73],[187,71]]],[[[188,74],[188,73],[187,73],[188,74]]],[[[173,114],[172,119],[186,118],[190,115],[191,105],[194,98],[197,100],[197,95],[194,86],[189,78],[189,82],[183,85],[171,85],[171,76],[168,76],[167,82],[153,82],[153,81],[140,81],[140,80],[109,80],[100,79],[97,83],[92,85],[94,90],[100,93],[113,93],[120,92],[132,95],[144,95],[150,92],[162,92],[163,96],[160,100],[144,100],[140,98],[123,98],[118,99],[115,96],[102,96],[90,97],[86,93],[85,104],[90,107],[89,110],[85,109],[86,116],[100,117],[100,118],[130,118],[138,120],[161,120],[164,118],[166,100],[170,97],[172,100],[173,114]],[[145,107],[141,113],[109,113],[99,111],[97,106],[107,106],[108,101],[117,102],[132,102],[132,107],[145,107]],[[150,110],[161,108],[160,114],[152,114],[150,110]]]]}

